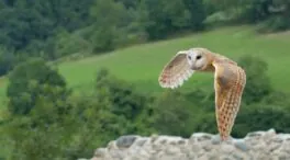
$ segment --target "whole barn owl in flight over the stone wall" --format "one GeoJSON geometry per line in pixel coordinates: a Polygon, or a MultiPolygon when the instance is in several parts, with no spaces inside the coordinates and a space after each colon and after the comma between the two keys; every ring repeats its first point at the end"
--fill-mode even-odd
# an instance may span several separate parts
{"type": "Polygon", "coordinates": [[[165,65],[158,81],[163,88],[176,89],[198,71],[214,73],[217,130],[220,138],[227,140],[241,105],[246,73],[235,61],[225,56],[207,48],[190,48],[178,52],[165,65]]]}

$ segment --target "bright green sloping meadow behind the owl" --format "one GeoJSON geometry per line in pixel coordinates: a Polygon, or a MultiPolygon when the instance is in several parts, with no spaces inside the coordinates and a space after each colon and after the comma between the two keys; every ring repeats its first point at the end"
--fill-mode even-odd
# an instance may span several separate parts
{"type": "MultiPolygon", "coordinates": [[[[268,75],[274,87],[290,91],[288,81],[290,70],[290,34],[255,34],[250,26],[224,27],[181,38],[137,45],[110,54],[67,61],[59,65],[60,73],[68,84],[78,91],[89,92],[96,72],[101,67],[110,69],[116,77],[136,83],[138,89],[147,92],[159,91],[158,75],[164,65],[180,49],[207,47],[213,52],[237,59],[241,55],[252,54],[261,57],[269,65],[268,75]]],[[[5,78],[0,79],[0,99],[4,100],[5,78]]],[[[202,85],[213,89],[212,75],[196,73],[180,90],[202,85]]]]}

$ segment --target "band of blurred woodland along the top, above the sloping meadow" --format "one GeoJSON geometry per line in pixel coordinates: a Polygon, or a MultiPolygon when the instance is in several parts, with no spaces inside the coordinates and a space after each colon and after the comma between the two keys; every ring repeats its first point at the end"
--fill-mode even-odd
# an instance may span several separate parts
{"type": "Polygon", "coordinates": [[[0,15],[0,75],[30,57],[100,54],[217,24],[290,26],[288,0],[3,0],[0,15]]]}

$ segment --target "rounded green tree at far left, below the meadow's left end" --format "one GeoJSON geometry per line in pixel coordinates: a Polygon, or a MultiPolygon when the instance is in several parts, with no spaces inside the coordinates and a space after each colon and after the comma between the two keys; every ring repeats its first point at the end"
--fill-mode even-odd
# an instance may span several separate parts
{"type": "Polygon", "coordinates": [[[7,96],[12,114],[27,114],[41,95],[49,96],[55,102],[56,99],[66,99],[68,94],[64,78],[41,58],[32,58],[16,66],[9,75],[9,81],[7,96]],[[46,94],[49,87],[57,88],[60,93],[46,94]]]}

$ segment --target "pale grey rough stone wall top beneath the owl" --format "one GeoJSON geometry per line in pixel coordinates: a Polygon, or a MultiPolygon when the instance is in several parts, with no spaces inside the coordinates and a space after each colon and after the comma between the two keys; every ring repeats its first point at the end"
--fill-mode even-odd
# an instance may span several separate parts
{"type": "Polygon", "coordinates": [[[269,129],[223,142],[207,133],[188,139],[127,135],[98,148],[91,160],[290,160],[290,134],[269,129]]]}

